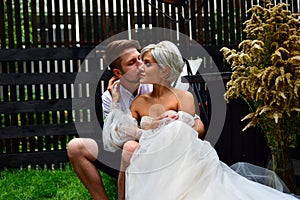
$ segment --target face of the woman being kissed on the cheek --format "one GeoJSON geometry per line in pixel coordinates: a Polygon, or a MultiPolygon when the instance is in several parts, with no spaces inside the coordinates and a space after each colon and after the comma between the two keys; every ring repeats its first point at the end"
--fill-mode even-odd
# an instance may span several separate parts
{"type": "Polygon", "coordinates": [[[141,66],[140,83],[161,83],[161,69],[150,52],[144,54],[143,63],[144,64],[141,66]]]}

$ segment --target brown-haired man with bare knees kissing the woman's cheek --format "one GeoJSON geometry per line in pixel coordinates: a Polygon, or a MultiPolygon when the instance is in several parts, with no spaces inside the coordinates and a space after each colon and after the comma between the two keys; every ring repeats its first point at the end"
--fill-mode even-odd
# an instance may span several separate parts
{"type": "MultiPolygon", "coordinates": [[[[111,42],[104,53],[104,60],[114,73],[114,77],[108,83],[108,88],[113,87],[115,81],[120,81],[120,105],[123,110],[130,107],[135,97],[152,91],[152,85],[139,83],[140,67],[143,65],[140,49],[140,44],[136,40],[117,40],[111,42]]],[[[111,101],[111,94],[105,91],[102,95],[105,117],[110,113],[111,101]]],[[[157,124],[158,121],[156,121],[157,124]]],[[[194,129],[199,137],[204,134],[201,120],[195,119],[194,129]]],[[[92,138],[75,138],[68,144],[68,157],[72,167],[95,200],[108,199],[101,175],[96,167],[100,164],[97,159],[100,155],[98,144],[92,138]]]]}

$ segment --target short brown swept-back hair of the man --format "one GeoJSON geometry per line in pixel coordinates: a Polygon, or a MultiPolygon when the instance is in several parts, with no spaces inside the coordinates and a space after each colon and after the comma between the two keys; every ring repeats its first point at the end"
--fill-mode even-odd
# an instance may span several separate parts
{"type": "Polygon", "coordinates": [[[121,66],[120,57],[127,49],[135,48],[138,51],[141,45],[137,40],[115,40],[109,43],[105,49],[103,59],[110,69],[119,69],[121,66]]]}

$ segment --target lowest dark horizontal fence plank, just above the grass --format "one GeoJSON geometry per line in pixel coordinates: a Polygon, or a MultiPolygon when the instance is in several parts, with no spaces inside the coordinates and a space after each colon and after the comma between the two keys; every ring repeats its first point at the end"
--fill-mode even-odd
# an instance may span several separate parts
{"type": "Polygon", "coordinates": [[[58,164],[68,162],[66,150],[47,151],[47,152],[29,152],[12,153],[0,155],[0,169],[19,168],[20,166],[58,164]]]}

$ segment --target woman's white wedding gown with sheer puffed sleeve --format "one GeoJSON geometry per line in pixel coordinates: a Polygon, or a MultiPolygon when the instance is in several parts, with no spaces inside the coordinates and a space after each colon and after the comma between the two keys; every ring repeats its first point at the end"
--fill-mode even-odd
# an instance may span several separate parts
{"type": "MultiPolygon", "coordinates": [[[[110,147],[122,145],[120,141],[130,132],[128,125],[134,126],[136,123],[134,120],[130,123],[126,121],[124,133],[120,131],[124,126],[121,122],[129,119],[129,113],[117,111],[112,117],[107,119],[104,129],[117,131],[104,130],[103,137],[105,146],[110,150],[110,147]],[[119,143],[114,144],[114,141],[119,143]]],[[[297,199],[237,174],[219,160],[209,142],[197,138],[191,124],[183,121],[186,120],[166,119],[159,128],[147,131],[132,127],[131,131],[135,133],[129,138],[140,138],[139,148],[132,155],[126,170],[126,199],[297,199]]],[[[143,120],[143,123],[147,122],[143,120]]]]}

